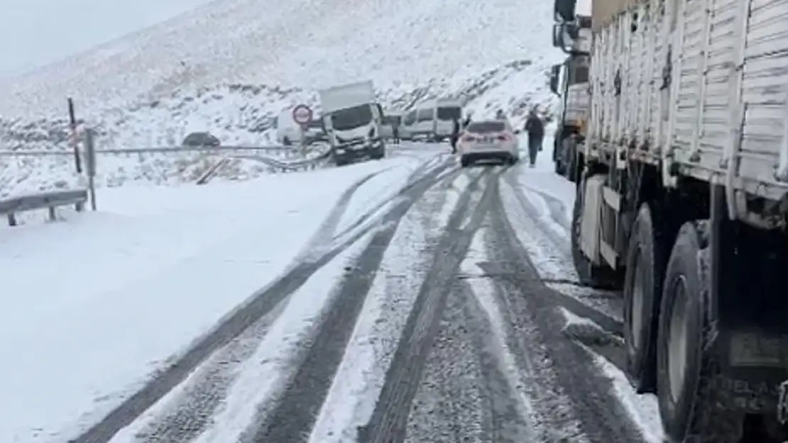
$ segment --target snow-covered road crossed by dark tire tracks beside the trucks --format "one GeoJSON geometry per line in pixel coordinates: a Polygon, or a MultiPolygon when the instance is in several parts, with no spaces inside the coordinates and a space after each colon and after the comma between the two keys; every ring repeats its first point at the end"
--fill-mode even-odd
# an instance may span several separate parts
{"type": "Polygon", "coordinates": [[[619,298],[571,284],[574,186],[446,151],[0,231],[0,440],[659,441],[619,298]]]}

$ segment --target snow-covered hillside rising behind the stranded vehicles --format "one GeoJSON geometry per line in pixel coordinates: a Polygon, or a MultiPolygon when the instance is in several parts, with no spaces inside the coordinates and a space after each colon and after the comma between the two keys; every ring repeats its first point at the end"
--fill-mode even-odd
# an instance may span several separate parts
{"type": "MultiPolygon", "coordinates": [[[[551,9],[538,0],[219,0],[0,80],[0,149],[66,150],[69,96],[104,148],[173,146],[191,131],[270,143],[285,106],[357,79],[374,79],[391,107],[444,95],[481,113],[546,104],[545,72],[562,57],[549,43],[551,9]]],[[[0,161],[3,194],[76,181],[68,157],[0,161]]],[[[105,162],[99,183],[117,183],[139,168],[132,161],[105,162]]],[[[179,161],[158,158],[157,169],[179,161]]]]}

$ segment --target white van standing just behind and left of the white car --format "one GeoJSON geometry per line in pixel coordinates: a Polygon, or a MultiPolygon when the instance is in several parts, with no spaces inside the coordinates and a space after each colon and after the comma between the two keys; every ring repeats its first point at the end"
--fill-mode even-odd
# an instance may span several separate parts
{"type": "Polygon", "coordinates": [[[418,105],[403,118],[403,135],[440,142],[452,135],[454,118],[463,120],[463,105],[456,100],[437,100],[418,105]]]}

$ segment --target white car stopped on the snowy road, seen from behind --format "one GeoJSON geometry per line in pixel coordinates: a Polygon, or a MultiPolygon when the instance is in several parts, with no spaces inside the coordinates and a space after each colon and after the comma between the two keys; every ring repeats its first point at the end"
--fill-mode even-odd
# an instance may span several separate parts
{"type": "Polygon", "coordinates": [[[477,161],[519,161],[519,141],[506,120],[481,120],[471,122],[457,142],[460,164],[463,168],[477,161]]]}

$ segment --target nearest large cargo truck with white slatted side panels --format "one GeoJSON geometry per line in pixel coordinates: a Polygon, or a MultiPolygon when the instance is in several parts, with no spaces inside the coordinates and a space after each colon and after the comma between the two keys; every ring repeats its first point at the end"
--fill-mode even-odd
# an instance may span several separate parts
{"type": "Polygon", "coordinates": [[[783,441],[788,2],[594,0],[591,29],[578,273],[623,290],[626,373],[671,441],[783,441]]]}

